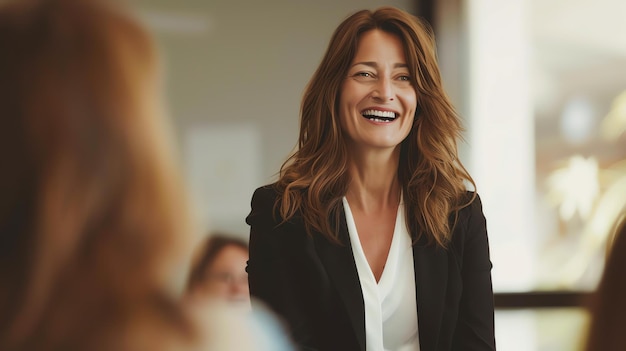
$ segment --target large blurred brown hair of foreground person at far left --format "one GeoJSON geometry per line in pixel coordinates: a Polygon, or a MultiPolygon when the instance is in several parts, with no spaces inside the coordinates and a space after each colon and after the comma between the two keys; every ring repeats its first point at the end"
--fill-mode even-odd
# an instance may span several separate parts
{"type": "Polygon", "coordinates": [[[153,43],[106,1],[25,0],[0,7],[0,52],[0,348],[71,349],[183,273],[153,43]]]}

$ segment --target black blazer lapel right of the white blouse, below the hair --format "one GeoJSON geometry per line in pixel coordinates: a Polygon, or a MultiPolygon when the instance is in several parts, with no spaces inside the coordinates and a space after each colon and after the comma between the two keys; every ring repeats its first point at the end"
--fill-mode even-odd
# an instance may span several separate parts
{"type": "Polygon", "coordinates": [[[420,350],[435,351],[448,281],[447,252],[420,240],[413,245],[413,262],[420,350]]]}

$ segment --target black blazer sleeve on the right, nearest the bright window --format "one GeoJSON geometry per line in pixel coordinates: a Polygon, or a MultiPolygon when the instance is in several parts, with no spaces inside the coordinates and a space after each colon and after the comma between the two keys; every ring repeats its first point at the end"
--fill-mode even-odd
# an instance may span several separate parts
{"type": "Polygon", "coordinates": [[[487,226],[480,197],[465,209],[467,224],[462,238],[463,292],[453,350],[495,350],[494,304],[487,226]]]}

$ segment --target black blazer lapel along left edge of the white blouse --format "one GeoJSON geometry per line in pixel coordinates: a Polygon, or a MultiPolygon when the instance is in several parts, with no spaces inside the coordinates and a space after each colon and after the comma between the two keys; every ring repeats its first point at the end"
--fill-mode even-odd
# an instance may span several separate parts
{"type": "Polygon", "coordinates": [[[321,234],[315,237],[315,246],[320,260],[344,302],[354,333],[359,341],[361,350],[364,351],[365,304],[343,210],[340,214],[339,239],[344,245],[331,243],[321,234]]]}

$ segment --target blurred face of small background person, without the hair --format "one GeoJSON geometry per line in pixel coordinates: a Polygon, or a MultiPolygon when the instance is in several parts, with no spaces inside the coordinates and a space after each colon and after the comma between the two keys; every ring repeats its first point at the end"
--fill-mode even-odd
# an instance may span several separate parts
{"type": "Polygon", "coordinates": [[[247,260],[247,250],[235,245],[225,246],[207,268],[205,282],[196,294],[249,305],[247,260]]]}

